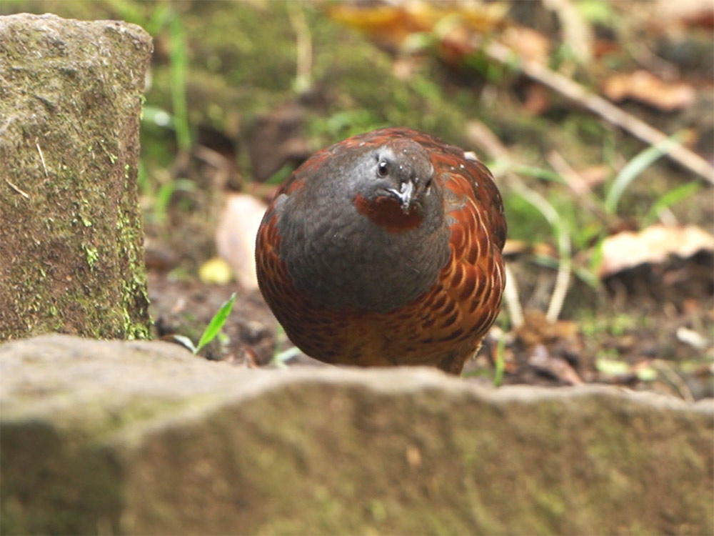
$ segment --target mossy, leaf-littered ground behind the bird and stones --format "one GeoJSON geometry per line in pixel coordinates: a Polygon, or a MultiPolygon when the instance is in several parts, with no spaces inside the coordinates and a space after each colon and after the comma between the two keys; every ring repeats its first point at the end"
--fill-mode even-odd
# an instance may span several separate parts
{"type": "Polygon", "coordinates": [[[655,225],[711,236],[711,180],[670,157],[643,163],[652,142],[562,88],[577,84],[677,137],[709,168],[714,39],[705,4],[18,0],[0,14],[123,19],[154,39],[139,196],[157,337],[196,342],[237,292],[201,359],[328,366],[291,349],[258,291],[199,277],[216,256],[217,215],[229,192],[267,199],[317,149],[410,126],[476,152],[506,206],[507,259],[526,322],[513,329],[504,308],[464,381],[603,382],[699,399],[714,396],[712,248],[609,275],[596,257],[605,239],[655,225]],[[496,61],[490,42],[518,61],[496,61]],[[527,75],[522,60],[560,86],[527,75]],[[563,259],[557,226],[513,188],[514,176],[570,233],[573,274],[555,323],[543,312],[563,259]]]}

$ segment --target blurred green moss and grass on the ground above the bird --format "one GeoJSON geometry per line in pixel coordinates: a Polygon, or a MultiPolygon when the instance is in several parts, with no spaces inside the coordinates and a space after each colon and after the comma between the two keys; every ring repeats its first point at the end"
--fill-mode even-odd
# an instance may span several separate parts
{"type": "MultiPolygon", "coordinates": [[[[215,129],[235,144],[238,170],[249,179],[248,146],[256,118],[301,99],[296,91],[300,30],[291,21],[291,9],[293,18],[296,9],[304,16],[311,44],[309,79],[317,104],[305,106],[302,134],[311,149],[387,125],[411,126],[470,147],[466,124],[479,119],[518,159],[518,164],[488,164],[497,174],[505,165],[547,200],[575,252],[596,246],[620,218],[648,223],[665,209],[686,212],[681,202],[698,192],[693,184],[678,184],[678,177],[672,179],[664,164],[651,165],[661,151],[643,152],[639,142],[558,96],[552,96],[545,114],[524,111],[516,91],[521,83],[518,74],[481,54],[466,57],[455,70],[433,54],[431,36],[415,34],[409,41],[413,54],[396,54],[407,66],[407,73],[400,74],[394,51],[331,20],[325,6],[302,2],[288,9],[278,1],[10,0],[0,6],[0,13],[51,11],[77,19],[124,19],[154,37],[140,187],[149,221],[156,224],[166,223],[166,211],[177,192],[191,192],[193,177],[177,173],[176,162],[177,155],[195,146],[199,128],[215,129]],[[486,94],[491,96],[485,98],[486,94]],[[583,209],[563,177],[550,168],[544,155],[553,150],[575,169],[605,166],[605,184],[588,194],[595,209],[583,209]],[[633,180],[639,176],[641,180],[633,180]]],[[[593,24],[620,24],[605,2],[580,0],[576,6],[593,24]]],[[[554,60],[558,54],[556,49],[554,60]]],[[[273,182],[291,169],[281,168],[273,182]]],[[[533,204],[508,189],[504,194],[509,237],[557,242],[553,225],[533,204]]],[[[589,270],[591,276],[593,268],[576,267],[589,270]]]]}

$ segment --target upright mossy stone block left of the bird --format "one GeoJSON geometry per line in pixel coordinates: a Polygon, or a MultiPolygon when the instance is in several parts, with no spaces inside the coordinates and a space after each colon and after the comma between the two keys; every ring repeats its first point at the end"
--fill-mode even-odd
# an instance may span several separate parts
{"type": "Polygon", "coordinates": [[[0,340],[148,333],[139,114],[151,37],[0,16],[0,340]]]}

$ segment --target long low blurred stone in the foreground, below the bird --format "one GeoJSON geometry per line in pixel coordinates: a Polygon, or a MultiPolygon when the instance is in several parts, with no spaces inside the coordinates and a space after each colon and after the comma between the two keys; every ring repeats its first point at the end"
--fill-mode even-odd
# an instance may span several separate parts
{"type": "Polygon", "coordinates": [[[710,401],[0,347],[3,534],[710,534],[710,401]]]}

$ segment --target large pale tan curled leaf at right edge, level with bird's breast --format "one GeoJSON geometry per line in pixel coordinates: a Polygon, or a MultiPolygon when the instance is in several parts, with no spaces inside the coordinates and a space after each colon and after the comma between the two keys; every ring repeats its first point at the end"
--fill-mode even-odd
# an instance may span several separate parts
{"type": "Polygon", "coordinates": [[[714,251],[714,235],[695,225],[652,225],[640,232],[620,232],[603,241],[600,277],[638,264],[659,264],[670,255],[684,259],[700,251],[714,251]]]}

